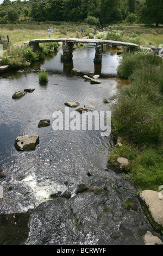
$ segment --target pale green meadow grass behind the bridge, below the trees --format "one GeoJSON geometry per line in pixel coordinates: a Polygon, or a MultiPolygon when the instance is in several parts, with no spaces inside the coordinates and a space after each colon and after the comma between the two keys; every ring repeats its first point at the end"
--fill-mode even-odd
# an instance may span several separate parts
{"type": "Polygon", "coordinates": [[[3,24],[0,25],[0,36],[2,39],[9,39],[12,44],[22,44],[32,39],[44,39],[48,38],[47,29],[53,27],[53,33],[51,38],[82,38],[80,33],[80,27],[83,27],[83,37],[93,34],[97,35],[97,38],[104,38],[110,40],[124,40],[129,42],[135,42],[142,46],[148,47],[149,44],[158,47],[162,44],[163,26],[156,28],[155,26],[147,26],[143,24],[127,25],[126,23],[120,23],[116,25],[108,25],[111,33],[99,32],[98,28],[86,23],[73,23],[73,22],[27,22],[19,24],[3,24]]]}

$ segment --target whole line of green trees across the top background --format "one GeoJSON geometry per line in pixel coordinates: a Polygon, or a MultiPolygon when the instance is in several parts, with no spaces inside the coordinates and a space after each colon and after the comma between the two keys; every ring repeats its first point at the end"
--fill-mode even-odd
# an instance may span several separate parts
{"type": "Polygon", "coordinates": [[[129,23],[163,23],[163,0],[4,0],[0,23],[15,21],[90,22],[106,26],[129,23]]]}

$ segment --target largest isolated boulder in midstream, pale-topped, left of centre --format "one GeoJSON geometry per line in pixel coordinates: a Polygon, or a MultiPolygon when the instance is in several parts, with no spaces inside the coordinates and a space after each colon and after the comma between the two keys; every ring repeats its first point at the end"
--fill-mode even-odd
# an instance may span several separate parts
{"type": "Polygon", "coordinates": [[[34,150],[37,143],[39,143],[38,135],[20,135],[15,139],[15,148],[18,151],[34,150]]]}

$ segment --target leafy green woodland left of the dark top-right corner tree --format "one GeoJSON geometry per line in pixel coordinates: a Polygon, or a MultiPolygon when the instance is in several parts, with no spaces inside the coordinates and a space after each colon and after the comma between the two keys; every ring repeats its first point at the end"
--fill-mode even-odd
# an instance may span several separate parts
{"type": "Polygon", "coordinates": [[[140,16],[141,8],[142,3],[135,0],[4,0],[0,5],[0,17],[3,17],[0,22],[81,22],[93,17],[97,21],[92,19],[89,21],[91,24],[93,22],[96,26],[99,26],[99,23],[105,26],[110,22],[125,20],[128,13],[140,16]],[[10,9],[14,12],[8,15],[10,9]]]}

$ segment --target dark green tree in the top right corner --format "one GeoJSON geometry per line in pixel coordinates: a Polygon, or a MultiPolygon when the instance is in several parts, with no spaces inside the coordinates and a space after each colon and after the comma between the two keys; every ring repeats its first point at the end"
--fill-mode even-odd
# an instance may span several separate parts
{"type": "Polygon", "coordinates": [[[141,11],[141,20],[145,23],[155,22],[158,27],[163,22],[163,3],[162,0],[146,0],[141,11]]]}

